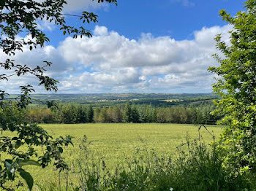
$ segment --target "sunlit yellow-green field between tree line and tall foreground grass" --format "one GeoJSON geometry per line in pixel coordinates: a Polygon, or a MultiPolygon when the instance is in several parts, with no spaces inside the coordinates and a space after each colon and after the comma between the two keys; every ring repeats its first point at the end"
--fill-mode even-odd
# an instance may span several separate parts
{"type": "MultiPolygon", "coordinates": [[[[74,147],[64,151],[64,157],[71,168],[76,159],[80,157],[79,144],[83,135],[91,141],[89,148],[94,152],[95,158],[103,158],[111,171],[116,165],[123,163],[128,157],[135,155],[137,149],[154,149],[159,155],[176,155],[176,147],[189,139],[198,138],[198,125],[174,124],[78,124],[78,125],[40,125],[48,130],[52,136],[74,136],[74,147]]],[[[208,125],[210,132],[218,136],[222,128],[208,125]]],[[[212,141],[212,136],[206,130],[200,130],[204,141],[212,141]]],[[[8,133],[9,134],[9,133],[8,133]]],[[[36,182],[58,182],[59,175],[52,167],[28,169],[33,174],[36,182]]],[[[75,169],[70,174],[71,179],[76,179],[75,169]]]]}

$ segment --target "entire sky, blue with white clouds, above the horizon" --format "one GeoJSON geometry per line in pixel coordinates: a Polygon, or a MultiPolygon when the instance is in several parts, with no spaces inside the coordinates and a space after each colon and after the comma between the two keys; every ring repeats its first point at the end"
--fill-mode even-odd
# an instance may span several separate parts
{"type": "MultiPolygon", "coordinates": [[[[43,0],[38,0],[43,1],[43,0]]],[[[99,15],[99,23],[83,25],[77,17],[67,23],[91,30],[92,38],[63,36],[58,26],[37,21],[50,39],[45,47],[14,56],[28,66],[51,61],[47,74],[59,80],[58,93],[211,93],[219,66],[211,55],[218,52],[214,36],[228,43],[228,26],[219,10],[231,15],[243,10],[241,0],[118,0],[98,4],[91,0],[67,0],[64,13],[83,10],[99,15]]],[[[0,59],[7,58],[0,51],[0,59]]],[[[19,93],[20,85],[32,84],[47,93],[33,77],[13,77],[1,89],[19,93]]]]}

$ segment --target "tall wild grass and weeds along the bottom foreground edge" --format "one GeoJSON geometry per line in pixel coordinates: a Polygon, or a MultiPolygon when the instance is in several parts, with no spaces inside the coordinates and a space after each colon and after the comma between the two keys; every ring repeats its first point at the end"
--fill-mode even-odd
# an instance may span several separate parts
{"type": "MultiPolygon", "coordinates": [[[[212,136],[214,140],[214,136],[212,136]]],[[[44,185],[41,190],[255,190],[255,174],[230,174],[222,167],[225,160],[215,141],[207,144],[200,136],[178,147],[176,156],[159,155],[154,149],[137,149],[133,157],[108,168],[104,158],[95,156],[86,136],[80,142],[78,183],[44,185]],[[114,170],[114,171],[113,171],[114,170]]],[[[72,169],[70,169],[70,172],[72,169]]]]}

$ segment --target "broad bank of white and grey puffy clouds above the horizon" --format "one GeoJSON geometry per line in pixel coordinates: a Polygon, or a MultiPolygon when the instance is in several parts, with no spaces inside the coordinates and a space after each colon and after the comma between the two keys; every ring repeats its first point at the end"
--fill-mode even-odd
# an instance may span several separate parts
{"type": "Polygon", "coordinates": [[[53,61],[49,74],[61,82],[60,93],[208,93],[213,75],[207,69],[218,64],[211,57],[217,52],[214,36],[221,33],[228,42],[231,29],[202,28],[194,39],[177,41],[151,34],[128,39],[96,26],[90,39],[67,37],[59,47],[26,48],[14,59],[29,66],[53,61]]]}

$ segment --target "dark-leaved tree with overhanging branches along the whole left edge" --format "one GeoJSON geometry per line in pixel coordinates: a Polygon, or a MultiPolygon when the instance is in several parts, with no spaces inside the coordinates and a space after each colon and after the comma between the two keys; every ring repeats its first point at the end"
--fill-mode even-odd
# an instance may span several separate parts
{"type": "MultiPolygon", "coordinates": [[[[104,0],[98,0],[103,2],[104,0]]],[[[105,0],[108,3],[116,3],[116,0],[105,0]]],[[[0,48],[10,58],[0,61],[0,69],[7,71],[6,74],[0,74],[0,80],[8,80],[10,77],[20,77],[26,74],[33,75],[39,80],[39,85],[45,87],[45,90],[57,91],[57,83],[55,79],[45,75],[45,70],[51,65],[49,61],[45,61],[45,66],[36,66],[30,68],[23,65],[15,64],[12,55],[22,51],[23,47],[29,46],[30,50],[43,47],[45,42],[50,39],[39,29],[37,20],[45,19],[50,23],[59,26],[63,34],[72,35],[74,38],[78,36],[91,37],[91,32],[80,26],[68,26],[65,22],[63,14],[65,0],[1,0],[0,1],[0,48]],[[18,38],[18,36],[21,36],[18,38]],[[29,36],[25,38],[23,36],[29,36]]],[[[78,15],[75,15],[77,17],[78,15]]],[[[97,22],[97,15],[92,12],[82,12],[79,16],[82,23],[97,22]]],[[[33,187],[33,178],[23,170],[23,165],[40,165],[45,168],[48,163],[54,160],[54,165],[60,171],[67,169],[61,153],[62,146],[72,144],[71,137],[67,136],[53,139],[48,133],[39,128],[37,125],[28,125],[23,117],[20,117],[20,111],[31,103],[30,93],[34,92],[31,85],[23,85],[20,87],[20,95],[13,101],[7,99],[7,92],[0,90],[0,126],[3,130],[14,132],[14,137],[2,136],[0,138],[0,152],[6,152],[10,158],[0,160],[0,187],[4,190],[12,190],[6,184],[7,181],[13,181],[19,174],[29,186],[29,190],[33,187]],[[15,120],[13,120],[15,119],[15,120]],[[39,155],[35,147],[42,147],[43,153],[39,155]],[[20,152],[21,147],[28,148],[27,151],[20,152]],[[31,157],[37,158],[37,161],[31,160],[31,157]]],[[[52,106],[52,102],[48,102],[48,106],[52,106]]]]}

